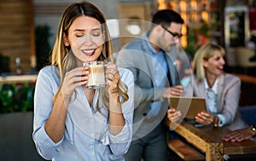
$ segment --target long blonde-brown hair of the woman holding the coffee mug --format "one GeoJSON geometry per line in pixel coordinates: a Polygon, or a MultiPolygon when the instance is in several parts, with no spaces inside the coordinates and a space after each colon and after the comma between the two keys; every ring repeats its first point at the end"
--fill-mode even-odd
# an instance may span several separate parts
{"type": "MultiPolygon", "coordinates": [[[[102,12],[96,8],[95,5],[89,2],[80,2],[73,3],[70,5],[64,12],[61,17],[61,22],[59,26],[59,31],[57,38],[55,40],[54,49],[51,57],[51,64],[53,66],[57,66],[60,72],[60,80],[63,83],[63,79],[65,77],[66,72],[72,70],[76,66],[75,57],[73,55],[70,47],[66,47],[64,45],[64,35],[68,35],[68,30],[70,26],[73,24],[73,20],[78,18],[81,15],[90,16],[95,18],[102,24],[102,32],[105,34],[106,42],[102,45],[102,53],[98,57],[98,60],[113,62],[113,48],[112,42],[110,41],[110,35],[108,32],[108,26],[106,25],[106,19],[102,12]]],[[[61,90],[61,85],[53,98],[53,102],[55,102],[56,95],[59,94],[61,90]]],[[[123,82],[119,82],[119,94],[122,95],[123,100],[121,103],[127,101],[129,96],[127,95],[127,86],[123,82]]],[[[100,90],[100,98],[104,106],[108,107],[108,90],[107,88],[100,90]]],[[[98,107],[98,106],[97,106],[98,107]]]]}

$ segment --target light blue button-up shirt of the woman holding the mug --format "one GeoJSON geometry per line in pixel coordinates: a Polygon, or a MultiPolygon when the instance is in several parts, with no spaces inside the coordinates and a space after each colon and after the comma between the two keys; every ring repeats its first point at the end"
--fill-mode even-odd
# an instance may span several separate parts
{"type": "Polygon", "coordinates": [[[108,110],[101,101],[101,112],[96,110],[99,89],[96,89],[91,107],[80,86],[67,109],[65,134],[61,141],[55,143],[45,132],[44,124],[52,111],[52,99],[60,85],[59,71],[55,66],[47,66],[39,72],[34,95],[32,138],[43,158],[55,161],[125,160],[123,154],[131,144],[134,80],[127,69],[119,68],[119,74],[121,81],[128,86],[129,95],[129,100],[121,106],[125,118],[122,131],[118,135],[110,134],[108,110]]]}

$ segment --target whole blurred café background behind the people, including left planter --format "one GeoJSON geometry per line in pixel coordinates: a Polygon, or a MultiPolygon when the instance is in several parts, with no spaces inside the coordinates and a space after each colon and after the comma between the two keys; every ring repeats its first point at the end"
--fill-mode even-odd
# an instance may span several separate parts
{"type": "MultiPolygon", "coordinates": [[[[0,160],[43,160],[32,143],[33,90],[61,14],[75,0],[0,0],[0,160]]],[[[201,44],[226,49],[225,72],[241,78],[241,108],[256,105],[256,0],[90,0],[105,14],[114,51],[148,29],[158,9],[181,14],[191,59],[201,44]]]]}

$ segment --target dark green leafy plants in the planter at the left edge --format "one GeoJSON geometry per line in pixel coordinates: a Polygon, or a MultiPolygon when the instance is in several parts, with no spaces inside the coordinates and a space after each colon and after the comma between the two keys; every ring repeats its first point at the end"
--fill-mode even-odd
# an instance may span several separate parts
{"type": "Polygon", "coordinates": [[[1,84],[0,113],[32,111],[34,89],[34,83],[1,84]]]}

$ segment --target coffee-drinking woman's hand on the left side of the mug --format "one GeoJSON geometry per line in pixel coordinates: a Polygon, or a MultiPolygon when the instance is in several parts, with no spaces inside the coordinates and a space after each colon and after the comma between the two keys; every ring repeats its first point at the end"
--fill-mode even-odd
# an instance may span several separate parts
{"type": "Polygon", "coordinates": [[[63,100],[65,101],[65,106],[67,106],[68,102],[70,101],[74,89],[87,83],[88,74],[89,66],[77,67],[66,73],[61,85],[61,93],[63,100]]]}

